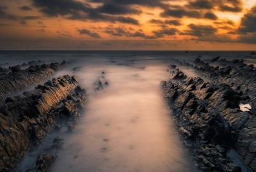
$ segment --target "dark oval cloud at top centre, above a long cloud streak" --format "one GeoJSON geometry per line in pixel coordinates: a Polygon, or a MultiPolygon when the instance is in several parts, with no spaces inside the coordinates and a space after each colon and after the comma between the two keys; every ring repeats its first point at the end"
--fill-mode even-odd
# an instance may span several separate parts
{"type": "Polygon", "coordinates": [[[123,4],[105,3],[97,8],[101,13],[107,13],[111,15],[127,15],[127,14],[140,14],[140,10],[136,10],[123,4]]]}

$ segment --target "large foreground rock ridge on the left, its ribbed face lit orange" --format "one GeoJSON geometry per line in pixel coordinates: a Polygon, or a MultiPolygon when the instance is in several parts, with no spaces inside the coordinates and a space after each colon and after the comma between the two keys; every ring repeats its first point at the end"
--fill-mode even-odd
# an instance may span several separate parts
{"type": "MultiPolygon", "coordinates": [[[[84,106],[85,90],[68,75],[8,97],[0,106],[0,171],[14,171],[26,152],[53,129],[76,125],[84,106]]],[[[47,155],[40,159],[45,158],[51,160],[47,155]]]]}

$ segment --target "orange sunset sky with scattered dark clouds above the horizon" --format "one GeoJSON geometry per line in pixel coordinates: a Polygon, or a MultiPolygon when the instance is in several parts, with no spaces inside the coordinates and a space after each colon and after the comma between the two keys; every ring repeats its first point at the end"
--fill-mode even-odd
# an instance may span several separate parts
{"type": "Polygon", "coordinates": [[[256,50],[256,0],[0,0],[0,50],[256,50]]]}

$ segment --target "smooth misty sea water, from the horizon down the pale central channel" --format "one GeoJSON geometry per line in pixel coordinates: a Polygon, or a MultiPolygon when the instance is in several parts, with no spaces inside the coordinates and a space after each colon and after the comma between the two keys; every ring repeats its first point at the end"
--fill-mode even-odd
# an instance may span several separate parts
{"type": "MultiPolygon", "coordinates": [[[[56,75],[75,75],[88,103],[74,133],[66,136],[52,171],[196,171],[161,96],[161,81],[175,60],[245,58],[249,52],[0,52],[2,67],[32,60],[68,62],[56,75]],[[8,64],[5,64],[8,62],[8,64]],[[79,69],[72,71],[72,68],[79,69]],[[102,76],[109,87],[94,92],[102,76]]],[[[251,59],[253,57],[250,57],[251,59]]],[[[182,67],[189,76],[191,69],[182,67]]],[[[51,79],[49,78],[49,79],[51,79]]]]}

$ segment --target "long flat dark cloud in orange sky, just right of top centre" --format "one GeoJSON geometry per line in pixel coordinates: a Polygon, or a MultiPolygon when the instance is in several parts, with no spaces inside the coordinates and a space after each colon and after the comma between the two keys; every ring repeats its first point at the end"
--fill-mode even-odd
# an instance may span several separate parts
{"type": "Polygon", "coordinates": [[[199,11],[196,10],[184,10],[184,9],[168,9],[160,14],[161,17],[191,17],[191,18],[201,18],[202,15],[199,11]]]}

